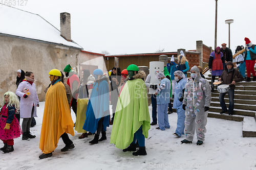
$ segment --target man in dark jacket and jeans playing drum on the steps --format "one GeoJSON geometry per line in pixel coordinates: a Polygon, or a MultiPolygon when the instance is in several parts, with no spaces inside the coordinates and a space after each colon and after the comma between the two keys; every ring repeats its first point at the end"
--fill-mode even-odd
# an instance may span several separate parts
{"type": "Polygon", "coordinates": [[[226,63],[225,69],[222,72],[221,77],[219,78],[219,81],[222,81],[222,84],[230,84],[230,90],[227,92],[221,92],[219,95],[219,100],[221,103],[221,108],[222,111],[220,114],[228,112],[229,115],[233,115],[233,110],[234,110],[234,88],[236,88],[235,84],[237,82],[242,82],[243,81],[243,76],[240,74],[240,72],[234,68],[234,65],[231,61],[228,61],[226,63]],[[225,101],[224,101],[224,96],[228,93],[228,98],[229,98],[229,107],[227,110],[225,101]]]}

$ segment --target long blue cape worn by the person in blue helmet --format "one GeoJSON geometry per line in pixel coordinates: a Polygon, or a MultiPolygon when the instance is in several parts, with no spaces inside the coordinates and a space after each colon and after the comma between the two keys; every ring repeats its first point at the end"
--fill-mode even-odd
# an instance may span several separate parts
{"type": "Polygon", "coordinates": [[[92,94],[86,110],[86,121],[83,124],[83,130],[95,133],[98,122],[103,117],[103,130],[109,127],[109,84],[108,79],[102,78],[94,83],[92,94]]]}

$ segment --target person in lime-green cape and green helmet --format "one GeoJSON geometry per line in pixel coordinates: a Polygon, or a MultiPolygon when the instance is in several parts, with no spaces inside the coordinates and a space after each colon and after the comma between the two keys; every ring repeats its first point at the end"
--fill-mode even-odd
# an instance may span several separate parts
{"type": "Polygon", "coordinates": [[[123,152],[136,151],[137,139],[139,149],[133,155],[146,155],[145,138],[150,129],[150,113],[142,80],[145,72],[139,71],[135,64],[129,65],[127,71],[129,77],[118,99],[110,143],[123,152]]]}

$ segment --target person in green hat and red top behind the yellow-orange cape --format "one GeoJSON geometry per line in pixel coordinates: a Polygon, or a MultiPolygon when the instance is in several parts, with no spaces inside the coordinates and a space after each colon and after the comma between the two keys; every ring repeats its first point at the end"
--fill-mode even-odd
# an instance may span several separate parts
{"type": "Polygon", "coordinates": [[[75,71],[71,71],[72,67],[70,66],[70,64],[68,64],[65,68],[64,68],[64,72],[66,77],[68,78],[67,84],[70,86],[71,88],[71,92],[72,92],[72,100],[70,103],[70,106],[72,107],[73,111],[75,112],[76,115],[76,110],[77,110],[77,97],[78,97],[78,93],[76,93],[78,87],[79,87],[79,78],[77,77],[75,71]]]}

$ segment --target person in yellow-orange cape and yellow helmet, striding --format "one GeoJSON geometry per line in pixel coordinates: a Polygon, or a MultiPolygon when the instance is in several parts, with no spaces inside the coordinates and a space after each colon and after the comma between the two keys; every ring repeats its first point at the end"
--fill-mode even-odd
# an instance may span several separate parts
{"type": "Polygon", "coordinates": [[[49,75],[51,86],[46,93],[44,117],[42,118],[39,148],[43,154],[39,156],[40,159],[52,156],[60,137],[66,144],[60,150],[61,152],[75,148],[68,136],[68,133],[74,136],[74,123],[70,114],[65,86],[60,81],[61,72],[58,69],[52,69],[49,75]]]}

